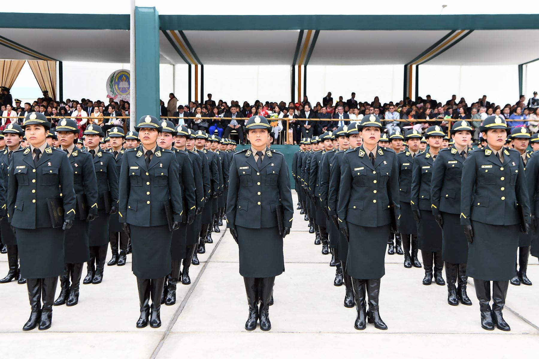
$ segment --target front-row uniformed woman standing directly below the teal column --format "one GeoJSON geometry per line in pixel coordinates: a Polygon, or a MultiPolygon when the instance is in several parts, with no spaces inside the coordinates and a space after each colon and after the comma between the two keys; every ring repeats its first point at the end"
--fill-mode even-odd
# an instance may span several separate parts
{"type": "Polygon", "coordinates": [[[161,326],[160,310],[164,277],[170,273],[171,230],[182,218],[182,193],[176,155],[156,145],[161,124],[142,116],[135,127],[142,145],[123,152],[120,170],[120,222],[133,245],[133,273],[139,289],[140,318],[137,328],[161,326]]]}

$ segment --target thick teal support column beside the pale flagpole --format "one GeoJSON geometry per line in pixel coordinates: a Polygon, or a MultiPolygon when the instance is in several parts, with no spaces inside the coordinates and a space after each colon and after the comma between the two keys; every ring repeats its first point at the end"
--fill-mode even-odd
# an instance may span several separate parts
{"type": "Polygon", "coordinates": [[[144,115],[159,118],[159,14],[135,7],[135,80],[137,122],[144,115]]]}

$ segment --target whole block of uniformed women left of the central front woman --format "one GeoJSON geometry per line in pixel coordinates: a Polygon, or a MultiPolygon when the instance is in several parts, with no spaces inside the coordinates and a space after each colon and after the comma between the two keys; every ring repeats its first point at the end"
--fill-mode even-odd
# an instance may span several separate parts
{"type": "Polygon", "coordinates": [[[212,137],[216,145],[207,151],[204,132],[144,116],[139,132],[111,129],[110,150],[100,146],[100,126],[86,128],[83,147],[77,124],[61,119],[56,148],[47,139],[50,126],[34,113],[22,126],[10,124],[0,153],[1,228],[9,258],[1,283],[16,279],[27,285],[31,315],[23,330],[48,329],[53,305],[78,304],[85,262],[83,283],[101,283],[108,243],[109,265],[124,265],[132,246],[141,308],[137,327],[159,327],[160,305],[175,304],[178,281],[191,283],[198,238],[206,241],[210,224],[224,211],[235,146],[212,137]],[[20,147],[23,135],[29,147],[20,147]],[[58,277],[61,290],[54,300],[58,277]]]}

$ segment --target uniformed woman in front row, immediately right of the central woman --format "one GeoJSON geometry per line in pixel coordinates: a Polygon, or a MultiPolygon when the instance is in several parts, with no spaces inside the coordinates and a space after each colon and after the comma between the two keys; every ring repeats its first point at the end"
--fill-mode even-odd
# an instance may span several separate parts
{"type": "MultiPolygon", "coordinates": [[[[397,155],[378,146],[382,123],[375,115],[363,117],[358,125],[363,145],[344,153],[341,188],[338,194],[338,223],[349,241],[347,271],[352,277],[357,306],[356,329],[374,323],[388,329],[380,318],[378,295],[385,274],[384,257],[392,228],[391,206],[399,213],[397,155]],[[365,306],[365,286],[369,311],[365,306]]],[[[395,223],[396,225],[396,223],[395,223]]]]}

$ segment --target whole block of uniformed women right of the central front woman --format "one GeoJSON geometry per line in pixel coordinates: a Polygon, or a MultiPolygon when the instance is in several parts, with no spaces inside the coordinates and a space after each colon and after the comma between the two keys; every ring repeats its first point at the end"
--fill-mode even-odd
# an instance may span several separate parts
{"type": "Polygon", "coordinates": [[[356,306],[356,329],[366,322],[387,328],[378,295],[383,238],[389,237],[388,254],[402,251],[405,268],[423,267],[424,285],[433,279],[447,284],[450,305],[472,305],[467,295],[472,277],[481,326],[510,330],[502,316],[509,280],[531,285],[530,245],[531,254],[539,254],[535,206],[530,212],[539,191],[539,156],[533,155],[539,136],[517,128],[508,137],[507,124],[497,116],[488,117],[479,131],[482,146],[472,151],[474,130],[466,121],[454,123],[450,140],[439,126],[423,137],[416,130],[388,136],[371,115],[302,139],[292,163],[298,209],[315,244],[322,243],[322,254],[329,245],[334,285],[344,283],[344,306],[356,306]]]}

